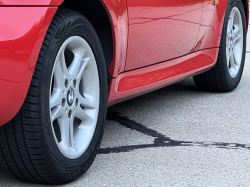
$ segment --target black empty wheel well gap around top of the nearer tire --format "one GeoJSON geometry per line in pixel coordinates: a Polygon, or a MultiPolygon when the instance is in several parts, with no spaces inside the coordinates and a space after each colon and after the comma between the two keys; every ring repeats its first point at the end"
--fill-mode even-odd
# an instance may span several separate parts
{"type": "Polygon", "coordinates": [[[68,8],[84,15],[94,27],[104,53],[108,79],[113,61],[113,36],[109,16],[100,0],[64,0],[59,8],[68,8]]]}

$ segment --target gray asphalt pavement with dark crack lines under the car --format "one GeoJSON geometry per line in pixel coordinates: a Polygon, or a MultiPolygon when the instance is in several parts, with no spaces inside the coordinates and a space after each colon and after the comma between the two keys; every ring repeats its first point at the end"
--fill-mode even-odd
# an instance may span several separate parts
{"type": "MultiPolygon", "coordinates": [[[[100,154],[65,186],[250,186],[250,38],[247,51],[234,92],[187,79],[109,108],[100,154]]],[[[0,186],[35,185],[1,170],[0,186]]]]}

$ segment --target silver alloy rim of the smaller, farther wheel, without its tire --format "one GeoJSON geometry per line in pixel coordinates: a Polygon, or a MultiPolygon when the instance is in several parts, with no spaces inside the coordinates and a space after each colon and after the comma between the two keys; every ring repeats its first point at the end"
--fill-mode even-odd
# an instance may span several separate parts
{"type": "Polygon", "coordinates": [[[228,71],[235,78],[241,67],[243,53],[243,23],[237,7],[232,9],[229,16],[226,45],[228,71]]]}

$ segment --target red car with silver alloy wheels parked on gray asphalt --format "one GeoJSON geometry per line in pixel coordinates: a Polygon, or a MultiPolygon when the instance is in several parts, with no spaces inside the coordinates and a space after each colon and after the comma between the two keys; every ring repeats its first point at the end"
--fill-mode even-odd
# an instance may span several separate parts
{"type": "Polygon", "coordinates": [[[0,165],[64,184],[93,163],[107,107],[193,77],[241,79],[248,0],[0,0],[0,165]]]}

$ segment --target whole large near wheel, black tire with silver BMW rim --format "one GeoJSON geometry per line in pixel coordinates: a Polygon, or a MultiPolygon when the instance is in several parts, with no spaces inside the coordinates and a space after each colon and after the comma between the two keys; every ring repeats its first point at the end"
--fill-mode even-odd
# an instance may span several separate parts
{"type": "Polygon", "coordinates": [[[81,14],[59,9],[25,102],[0,127],[0,164],[29,182],[64,184],[79,178],[101,143],[107,93],[97,34],[81,14]]]}

